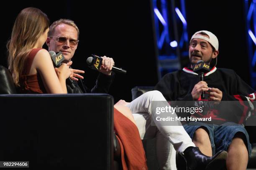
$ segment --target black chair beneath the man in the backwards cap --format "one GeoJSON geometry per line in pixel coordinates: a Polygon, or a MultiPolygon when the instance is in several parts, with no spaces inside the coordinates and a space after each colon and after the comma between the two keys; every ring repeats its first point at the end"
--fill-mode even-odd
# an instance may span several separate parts
{"type": "MultiPolygon", "coordinates": [[[[133,87],[131,92],[132,92],[132,99],[136,99],[140,95],[142,95],[145,92],[154,90],[153,86],[137,86],[133,87]]],[[[256,122],[256,115],[250,117],[247,120],[247,123],[250,124],[250,122],[253,122],[251,124],[255,124],[256,122]]],[[[247,168],[256,168],[256,126],[245,126],[249,137],[250,137],[250,143],[252,145],[252,153],[248,161],[248,166],[247,168]]],[[[156,159],[156,151],[155,151],[155,140],[143,140],[143,147],[146,153],[147,157],[147,163],[148,163],[148,169],[149,170],[155,170],[158,168],[158,163],[156,159]]],[[[185,160],[182,156],[179,156],[178,154],[176,155],[176,165],[178,170],[186,170],[186,163],[185,160]]]]}

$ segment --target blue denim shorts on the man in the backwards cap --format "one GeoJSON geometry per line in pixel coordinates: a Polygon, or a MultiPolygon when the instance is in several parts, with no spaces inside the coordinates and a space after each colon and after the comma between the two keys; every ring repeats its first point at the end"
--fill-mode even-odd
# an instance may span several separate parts
{"type": "Polygon", "coordinates": [[[212,154],[214,155],[220,150],[228,150],[228,146],[231,144],[234,135],[238,132],[243,133],[246,136],[245,143],[249,156],[251,155],[251,143],[249,141],[249,135],[246,129],[242,125],[238,125],[233,122],[226,122],[222,125],[206,124],[202,122],[189,122],[184,125],[184,129],[193,139],[194,133],[198,128],[205,127],[210,135],[210,141],[212,145],[212,154]]]}

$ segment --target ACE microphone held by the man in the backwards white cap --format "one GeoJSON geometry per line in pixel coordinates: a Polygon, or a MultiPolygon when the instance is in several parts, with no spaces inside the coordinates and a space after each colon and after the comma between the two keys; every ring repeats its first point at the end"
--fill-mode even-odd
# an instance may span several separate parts
{"type": "MultiPolygon", "coordinates": [[[[206,62],[202,60],[199,60],[197,61],[197,64],[193,68],[193,71],[199,75],[200,81],[204,81],[204,74],[210,71],[210,65],[208,65],[206,62]]],[[[202,92],[201,98],[205,99],[205,91],[202,92]]]]}

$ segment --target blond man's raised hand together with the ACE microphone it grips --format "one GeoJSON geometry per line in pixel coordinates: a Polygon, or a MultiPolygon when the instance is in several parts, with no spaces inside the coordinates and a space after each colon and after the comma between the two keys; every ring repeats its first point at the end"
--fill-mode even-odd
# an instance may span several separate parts
{"type": "Polygon", "coordinates": [[[110,75],[111,71],[120,72],[123,74],[126,73],[126,70],[114,67],[113,65],[115,64],[115,62],[113,61],[113,59],[106,56],[99,57],[97,55],[92,54],[92,57],[88,57],[86,62],[91,69],[97,70],[104,74],[110,75]]]}

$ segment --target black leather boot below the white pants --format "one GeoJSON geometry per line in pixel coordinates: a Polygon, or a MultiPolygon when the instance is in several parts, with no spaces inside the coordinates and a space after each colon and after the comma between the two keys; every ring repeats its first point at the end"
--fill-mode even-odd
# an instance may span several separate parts
{"type": "Polygon", "coordinates": [[[206,156],[198,147],[189,147],[184,151],[187,170],[218,170],[226,166],[228,153],[219,151],[212,157],[206,156]]]}

